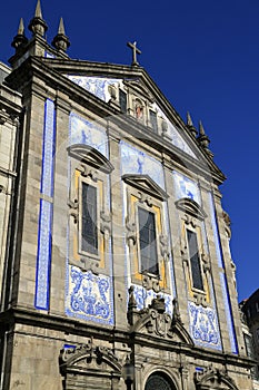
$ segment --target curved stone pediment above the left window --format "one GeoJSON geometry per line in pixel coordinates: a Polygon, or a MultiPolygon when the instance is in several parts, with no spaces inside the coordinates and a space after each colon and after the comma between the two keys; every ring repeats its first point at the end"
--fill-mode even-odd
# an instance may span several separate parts
{"type": "Polygon", "coordinates": [[[98,170],[107,174],[113,170],[112,164],[99,150],[89,145],[71,145],[68,147],[68,153],[71,157],[80,160],[83,164],[90,165],[98,170]]]}

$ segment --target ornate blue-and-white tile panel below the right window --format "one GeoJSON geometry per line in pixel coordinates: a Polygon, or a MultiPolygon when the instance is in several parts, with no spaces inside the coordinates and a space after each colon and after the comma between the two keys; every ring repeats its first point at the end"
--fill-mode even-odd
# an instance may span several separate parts
{"type": "Polygon", "coordinates": [[[216,310],[188,302],[190,335],[195,344],[221,350],[221,340],[216,310]]]}

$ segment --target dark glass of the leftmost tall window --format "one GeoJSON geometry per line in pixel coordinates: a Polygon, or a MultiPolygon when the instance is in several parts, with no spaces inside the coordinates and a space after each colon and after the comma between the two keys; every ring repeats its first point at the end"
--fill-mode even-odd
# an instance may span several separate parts
{"type": "Polygon", "coordinates": [[[82,183],[82,240],[81,250],[98,253],[97,188],[82,183]]]}

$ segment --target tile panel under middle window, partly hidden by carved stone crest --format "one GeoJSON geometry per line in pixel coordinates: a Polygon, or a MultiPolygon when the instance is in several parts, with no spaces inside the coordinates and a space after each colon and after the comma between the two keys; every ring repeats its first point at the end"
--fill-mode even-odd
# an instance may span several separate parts
{"type": "Polygon", "coordinates": [[[165,299],[166,312],[172,315],[172,296],[171,295],[162,292],[159,292],[157,294],[153,290],[146,290],[143,286],[138,284],[132,284],[132,285],[135,287],[133,295],[135,295],[138,310],[148,308],[149,304],[151,304],[152,300],[158,295],[160,295],[165,299]]]}

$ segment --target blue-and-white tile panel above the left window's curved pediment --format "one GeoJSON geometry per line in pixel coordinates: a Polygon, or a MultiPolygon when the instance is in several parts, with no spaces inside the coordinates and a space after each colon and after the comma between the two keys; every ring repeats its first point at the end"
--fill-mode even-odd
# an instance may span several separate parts
{"type": "Polygon", "coordinates": [[[108,144],[106,129],[94,121],[70,115],[69,145],[84,144],[94,147],[108,158],[108,144]]]}

